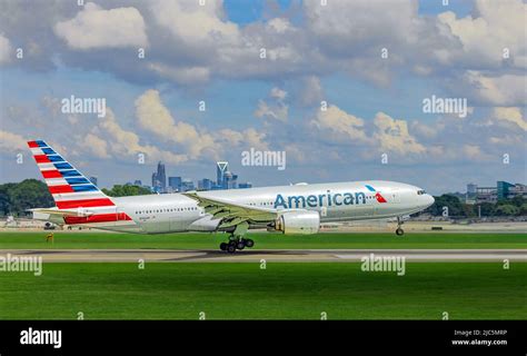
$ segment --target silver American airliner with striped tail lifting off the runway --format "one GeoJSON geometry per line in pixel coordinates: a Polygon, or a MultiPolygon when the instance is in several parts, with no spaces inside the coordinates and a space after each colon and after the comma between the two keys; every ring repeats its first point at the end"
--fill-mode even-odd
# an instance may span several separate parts
{"type": "Polygon", "coordinates": [[[317,234],[321,222],[397,219],[434,204],[424,189],[407,184],[367,180],[330,184],[188,191],[109,197],[43,140],[28,141],[56,207],[30,209],[33,219],[136,234],[223,231],[220,249],[251,248],[249,229],[317,234]]]}

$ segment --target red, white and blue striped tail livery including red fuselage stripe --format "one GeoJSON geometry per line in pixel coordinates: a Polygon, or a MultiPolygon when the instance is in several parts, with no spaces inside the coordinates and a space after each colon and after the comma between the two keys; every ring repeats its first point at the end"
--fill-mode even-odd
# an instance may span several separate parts
{"type": "Polygon", "coordinates": [[[58,211],[79,211],[79,216],[64,215],[66,224],[131,220],[123,212],[117,214],[115,202],[44,141],[28,141],[28,146],[58,211]]]}

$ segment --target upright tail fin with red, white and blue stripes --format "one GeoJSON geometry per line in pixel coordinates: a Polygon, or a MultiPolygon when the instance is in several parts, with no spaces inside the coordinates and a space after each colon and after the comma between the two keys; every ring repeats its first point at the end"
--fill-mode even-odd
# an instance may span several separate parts
{"type": "Polygon", "coordinates": [[[59,209],[110,207],[113,201],[42,140],[28,141],[59,209]]]}

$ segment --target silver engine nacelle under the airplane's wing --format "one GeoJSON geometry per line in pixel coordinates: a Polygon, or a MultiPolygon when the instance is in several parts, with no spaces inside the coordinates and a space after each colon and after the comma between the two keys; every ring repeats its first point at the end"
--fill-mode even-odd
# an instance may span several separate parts
{"type": "Polygon", "coordinates": [[[275,230],[284,234],[317,234],[320,229],[320,215],[317,211],[285,211],[275,221],[275,230]]]}

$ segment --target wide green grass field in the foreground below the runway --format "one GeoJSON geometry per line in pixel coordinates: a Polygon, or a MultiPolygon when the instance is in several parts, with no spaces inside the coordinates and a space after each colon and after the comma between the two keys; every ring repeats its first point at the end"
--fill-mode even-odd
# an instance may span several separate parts
{"type": "Polygon", "coordinates": [[[47,264],[0,274],[0,319],[526,319],[527,264],[47,264]]]}

